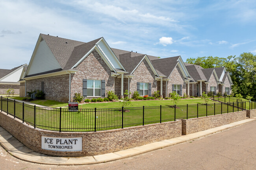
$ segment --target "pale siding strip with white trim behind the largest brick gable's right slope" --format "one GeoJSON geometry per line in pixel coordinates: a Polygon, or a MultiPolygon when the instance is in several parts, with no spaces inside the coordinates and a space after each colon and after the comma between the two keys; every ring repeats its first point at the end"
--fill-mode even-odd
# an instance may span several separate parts
{"type": "Polygon", "coordinates": [[[122,69],[120,64],[117,62],[116,57],[109,51],[109,49],[106,47],[104,42],[101,40],[98,42],[98,47],[102,51],[102,53],[105,55],[105,57],[109,60],[110,64],[113,66],[113,68],[122,69]]]}

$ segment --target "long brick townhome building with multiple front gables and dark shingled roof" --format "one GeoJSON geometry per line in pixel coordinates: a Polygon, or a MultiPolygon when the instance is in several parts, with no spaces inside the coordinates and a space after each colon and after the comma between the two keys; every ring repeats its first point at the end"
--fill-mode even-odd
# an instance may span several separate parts
{"type": "Polygon", "coordinates": [[[203,90],[219,90],[218,83],[215,69],[184,63],[180,56],[158,58],[110,48],[103,37],[80,42],[44,34],[20,78],[26,92],[42,90],[46,99],[62,102],[72,101],[75,93],[90,99],[114,91],[121,98],[126,90],[132,93],[129,97],[134,91],[152,96],[158,90],[161,97],[173,91],[199,96],[203,90]]]}

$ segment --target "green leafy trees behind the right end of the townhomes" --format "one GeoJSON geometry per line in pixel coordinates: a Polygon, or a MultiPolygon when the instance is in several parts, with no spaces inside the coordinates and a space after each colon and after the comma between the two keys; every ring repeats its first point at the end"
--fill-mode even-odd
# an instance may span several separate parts
{"type": "Polygon", "coordinates": [[[240,93],[243,98],[250,95],[253,97],[252,101],[256,101],[256,55],[244,52],[239,57],[197,57],[187,58],[186,62],[200,65],[202,68],[225,67],[234,84],[232,93],[240,93]]]}

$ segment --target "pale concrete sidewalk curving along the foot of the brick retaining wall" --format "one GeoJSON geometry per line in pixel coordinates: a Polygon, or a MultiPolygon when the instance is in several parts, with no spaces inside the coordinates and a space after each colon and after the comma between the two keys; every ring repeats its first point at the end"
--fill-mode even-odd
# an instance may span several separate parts
{"type": "Polygon", "coordinates": [[[135,148],[130,148],[126,150],[121,150],[109,154],[95,155],[95,156],[85,156],[85,157],[52,157],[49,155],[39,154],[34,152],[20,143],[15,137],[13,137],[9,132],[4,130],[0,126],[0,144],[14,157],[21,159],[23,161],[28,161],[32,163],[48,164],[48,165],[88,165],[104,163],[108,161],[114,161],[118,159],[124,159],[127,157],[132,157],[135,155],[143,154],[153,150],[158,150],[168,146],[173,146],[175,144],[184,143],[199,137],[204,137],[222,130],[226,130],[247,122],[255,121],[256,117],[252,119],[245,119],[243,121],[233,122],[216,128],[204,130],[197,133],[192,133],[189,135],[182,135],[180,137],[167,139],[159,142],[154,142],[150,144],[145,144],[143,146],[138,146],[135,148]]]}

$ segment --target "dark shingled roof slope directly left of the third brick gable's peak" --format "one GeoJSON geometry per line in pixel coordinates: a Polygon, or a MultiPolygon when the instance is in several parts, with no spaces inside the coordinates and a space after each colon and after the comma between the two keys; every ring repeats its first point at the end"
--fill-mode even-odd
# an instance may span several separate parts
{"type": "Polygon", "coordinates": [[[175,68],[175,66],[178,63],[178,58],[180,56],[176,57],[169,57],[169,58],[160,58],[158,60],[151,60],[154,68],[156,68],[158,71],[160,71],[163,75],[166,75],[169,77],[175,68]]]}

